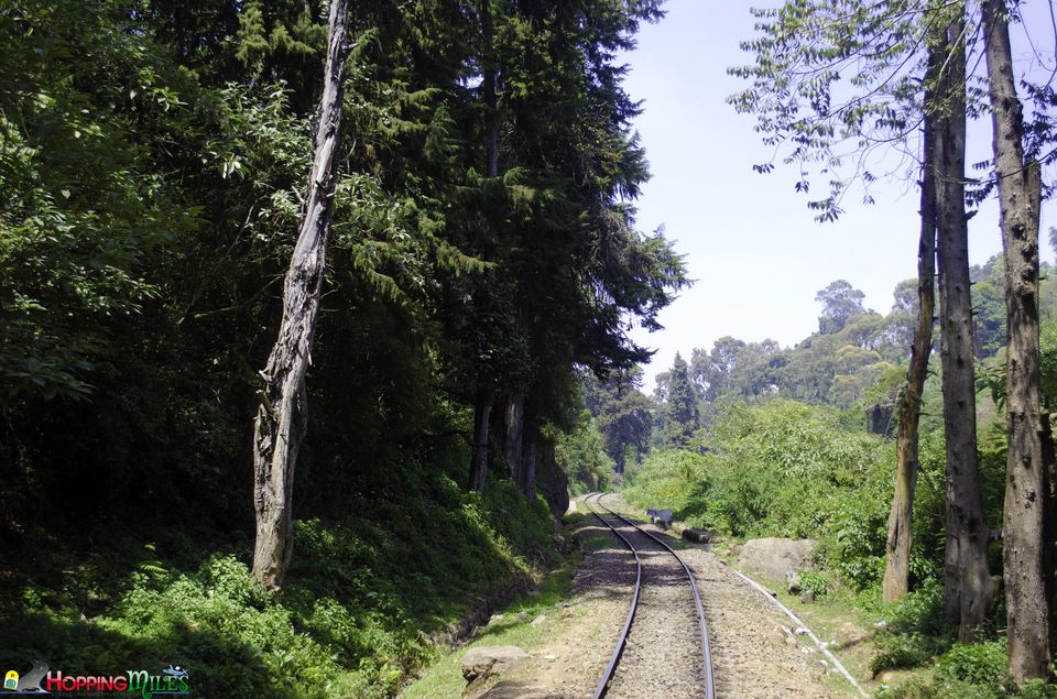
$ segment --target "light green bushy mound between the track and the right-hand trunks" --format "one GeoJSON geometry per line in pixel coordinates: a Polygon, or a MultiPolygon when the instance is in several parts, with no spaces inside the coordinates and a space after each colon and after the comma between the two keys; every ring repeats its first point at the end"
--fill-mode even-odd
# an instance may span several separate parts
{"type": "Polygon", "coordinates": [[[649,456],[628,499],[739,537],[818,538],[846,583],[880,579],[891,445],[849,428],[839,411],[780,400],[728,405],[702,444],[704,456],[649,456]]]}

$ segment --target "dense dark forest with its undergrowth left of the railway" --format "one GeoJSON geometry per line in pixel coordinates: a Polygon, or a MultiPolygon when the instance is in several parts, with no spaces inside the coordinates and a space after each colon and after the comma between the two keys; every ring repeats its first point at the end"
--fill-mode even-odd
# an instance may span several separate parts
{"type": "Polygon", "coordinates": [[[0,664],[388,695],[546,570],[576,371],[687,284],[614,62],[660,18],[4,3],[0,664]]]}

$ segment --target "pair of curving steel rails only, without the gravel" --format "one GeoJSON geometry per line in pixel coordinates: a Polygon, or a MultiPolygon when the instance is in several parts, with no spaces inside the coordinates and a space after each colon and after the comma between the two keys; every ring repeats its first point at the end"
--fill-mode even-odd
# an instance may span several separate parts
{"type": "Polygon", "coordinates": [[[695,613],[696,613],[696,615],[697,615],[697,620],[698,620],[698,622],[699,622],[700,636],[701,636],[701,657],[702,657],[702,668],[701,668],[701,669],[702,669],[702,673],[701,673],[701,674],[702,674],[704,680],[705,680],[705,687],[704,687],[704,689],[705,689],[705,697],[706,697],[707,699],[715,699],[715,697],[716,697],[716,690],[715,690],[715,684],[713,684],[713,680],[712,680],[712,658],[711,658],[711,649],[710,649],[709,643],[708,643],[708,624],[707,624],[706,621],[705,621],[705,610],[704,610],[704,608],[702,608],[702,605],[701,605],[701,596],[700,596],[700,593],[699,593],[698,590],[697,590],[697,583],[696,583],[696,581],[694,580],[694,575],[693,575],[693,572],[690,571],[690,569],[689,569],[689,567],[686,565],[686,563],[683,560],[683,558],[675,551],[675,549],[673,549],[671,546],[668,546],[667,543],[665,543],[665,542],[664,542],[663,539],[661,539],[660,537],[655,536],[653,533],[647,532],[646,529],[640,527],[635,522],[632,522],[631,520],[624,517],[623,515],[621,515],[621,514],[619,514],[619,513],[617,513],[617,512],[613,512],[612,510],[610,510],[609,507],[607,507],[607,506],[606,506],[604,504],[602,504],[602,502],[601,502],[602,496],[603,496],[603,493],[591,493],[591,494],[587,495],[587,496],[584,499],[584,503],[585,503],[585,504],[588,506],[588,509],[591,511],[591,514],[593,514],[596,517],[598,517],[598,520],[599,520],[602,524],[604,524],[607,527],[609,527],[609,528],[613,532],[613,534],[615,534],[617,537],[620,538],[621,542],[623,542],[624,546],[626,546],[628,549],[634,555],[634,557],[635,557],[635,587],[634,587],[634,592],[632,593],[631,604],[629,605],[629,609],[628,609],[628,618],[626,618],[626,620],[624,621],[624,626],[623,626],[623,629],[622,629],[621,632],[620,632],[619,638],[617,640],[617,645],[615,645],[615,647],[613,648],[613,654],[612,654],[612,656],[610,657],[609,664],[606,666],[606,670],[604,670],[604,673],[602,674],[602,677],[601,677],[601,679],[600,679],[599,682],[598,682],[598,687],[595,689],[595,693],[592,695],[592,699],[601,699],[601,697],[604,697],[604,696],[606,696],[606,692],[609,690],[610,684],[611,684],[611,681],[613,680],[614,675],[617,674],[618,667],[619,667],[619,665],[620,665],[621,657],[622,657],[622,655],[623,655],[623,653],[624,653],[624,647],[625,647],[625,645],[626,645],[626,643],[628,643],[628,636],[629,636],[629,634],[630,634],[630,632],[631,632],[631,630],[632,630],[632,626],[633,626],[633,624],[634,624],[635,613],[636,613],[638,610],[639,610],[639,601],[640,601],[641,592],[642,592],[642,589],[643,589],[643,565],[642,565],[642,557],[640,556],[640,554],[641,554],[641,553],[644,553],[644,551],[642,551],[640,548],[636,548],[636,547],[634,546],[634,544],[632,544],[632,542],[631,542],[628,537],[625,537],[625,536],[617,528],[617,526],[613,526],[613,524],[610,523],[609,521],[607,521],[607,518],[603,517],[601,514],[599,514],[598,511],[596,511],[595,509],[592,509],[592,507],[591,507],[591,504],[598,505],[599,507],[601,507],[602,510],[604,510],[604,511],[606,511],[609,515],[611,515],[612,517],[615,517],[615,518],[619,520],[620,522],[623,522],[623,523],[626,524],[628,526],[634,527],[634,529],[636,529],[636,531],[640,532],[641,534],[650,537],[653,542],[655,542],[656,544],[658,544],[660,546],[662,546],[665,551],[667,551],[668,554],[671,554],[671,555],[672,555],[673,557],[675,557],[675,559],[678,561],[679,566],[680,566],[682,569],[683,569],[683,574],[686,576],[686,579],[687,579],[687,581],[689,582],[690,590],[694,592],[694,607],[695,607],[695,610],[694,610],[694,611],[695,611],[695,613]],[[593,503],[591,502],[591,499],[593,499],[593,503]]]}

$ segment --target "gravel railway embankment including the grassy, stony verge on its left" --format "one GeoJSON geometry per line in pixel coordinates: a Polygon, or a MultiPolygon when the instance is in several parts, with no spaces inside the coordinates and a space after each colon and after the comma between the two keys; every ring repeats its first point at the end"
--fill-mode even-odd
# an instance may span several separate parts
{"type": "MultiPolygon", "coordinates": [[[[606,504],[626,512],[614,496],[607,498],[606,504]]],[[[468,644],[408,687],[404,697],[571,698],[596,692],[626,622],[636,566],[623,543],[587,512],[580,500],[577,512],[567,516],[581,553],[553,571],[535,594],[493,615],[468,644]],[[464,674],[468,665],[501,647],[517,648],[516,659],[464,674]]],[[[640,526],[671,539],[694,576],[708,622],[716,696],[854,696],[822,654],[811,649],[814,644],[797,634],[788,619],[727,561],[705,546],[680,542],[646,523],[640,526]]],[[[693,596],[684,593],[685,582],[674,566],[662,563],[657,548],[644,540],[635,543],[643,549],[640,558],[647,560],[641,609],[632,623],[633,627],[639,623],[639,629],[629,634],[618,664],[624,664],[624,671],[614,676],[606,696],[704,696],[693,596]],[[688,629],[676,635],[676,626],[688,629]]]]}

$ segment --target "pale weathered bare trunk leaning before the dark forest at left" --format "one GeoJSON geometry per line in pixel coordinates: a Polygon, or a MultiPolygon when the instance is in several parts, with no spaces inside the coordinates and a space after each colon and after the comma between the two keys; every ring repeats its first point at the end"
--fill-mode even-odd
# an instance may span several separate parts
{"type": "Polygon", "coordinates": [[[319,99],[319,123],[308,178],[308,205],[283,287],[279,339],[261,375],[261,406],[253,422],[253,509],[257,543],[253,578],[282,585],[293,553],[293,485],[297,448],[305,436],[305,373],[319,310],[327,239],[334,216],[335,152],[341,128],[342,78],[349,55],[348,2],[333,0],[330,34],[319,99]]]}

